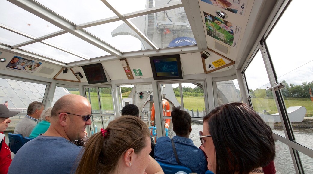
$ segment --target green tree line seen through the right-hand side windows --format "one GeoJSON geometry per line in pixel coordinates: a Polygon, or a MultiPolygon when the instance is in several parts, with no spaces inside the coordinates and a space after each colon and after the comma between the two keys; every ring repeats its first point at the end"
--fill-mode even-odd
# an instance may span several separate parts
{"type": "MultiPolygon", "coordinates": [[[[303,82],[301,85],[288,84],[285,80],[280,83],[285,84],[285,88],[280,90],[284,98],[310,98],[309,88],[313,88],[313,81],[303,82]]],[[[250,96],[255,98],[273,98],[271,90],[249,89],[249,92],[250,96]]]]}

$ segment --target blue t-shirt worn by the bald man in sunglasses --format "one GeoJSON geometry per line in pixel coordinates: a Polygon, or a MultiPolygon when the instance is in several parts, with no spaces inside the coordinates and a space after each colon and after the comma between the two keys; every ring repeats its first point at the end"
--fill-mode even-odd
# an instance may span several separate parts
{"type": "Polygon", "coordinates": [[[84,148],[63,137],[39,135],[24,144],[14,156],[8,174],[71,173],[84,148]]]}

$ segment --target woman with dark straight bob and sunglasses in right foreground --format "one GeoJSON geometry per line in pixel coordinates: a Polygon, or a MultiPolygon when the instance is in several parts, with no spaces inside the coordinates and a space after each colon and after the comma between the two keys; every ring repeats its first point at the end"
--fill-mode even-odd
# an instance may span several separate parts
{"type": "Polygon", "coordinates": [[[275,157],[271,128],[247,104],[235,102],[213,109],[199,131],[208,169],[215,174],[263,173],[275,157]]]}

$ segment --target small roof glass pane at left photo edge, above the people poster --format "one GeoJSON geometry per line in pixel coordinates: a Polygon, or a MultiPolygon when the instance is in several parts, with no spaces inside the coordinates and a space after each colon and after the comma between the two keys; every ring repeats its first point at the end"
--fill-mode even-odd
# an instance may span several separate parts
{"type": "MultiPolygon", "coordinates": [[[[1,7],[0,7],[1,8],[1,7]]],[[[30,39],[12,31],[0,28],[0,42],[10,46],[29,41],[30,39]]]]}

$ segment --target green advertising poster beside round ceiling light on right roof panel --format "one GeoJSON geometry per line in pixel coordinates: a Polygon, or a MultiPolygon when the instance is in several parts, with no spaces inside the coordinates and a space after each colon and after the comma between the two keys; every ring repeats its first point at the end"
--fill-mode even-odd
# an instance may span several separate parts
{"type": "Polygon", "coordinates": [[[207,34],[225,44],[237,47],[241,27],[219,17],[203,12],[207,34]]]}

